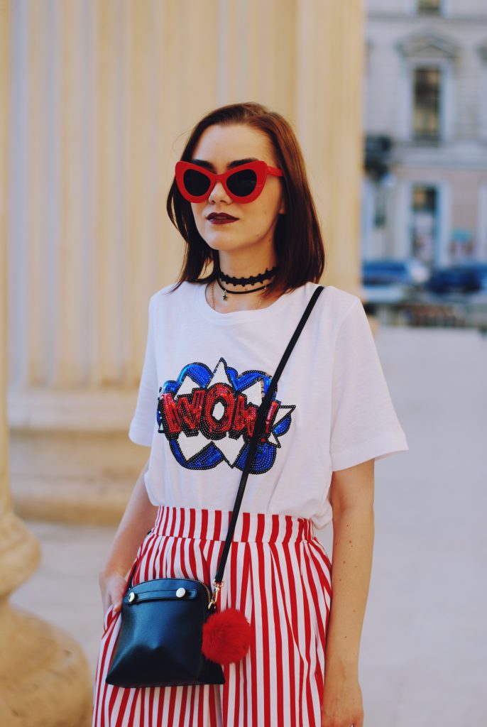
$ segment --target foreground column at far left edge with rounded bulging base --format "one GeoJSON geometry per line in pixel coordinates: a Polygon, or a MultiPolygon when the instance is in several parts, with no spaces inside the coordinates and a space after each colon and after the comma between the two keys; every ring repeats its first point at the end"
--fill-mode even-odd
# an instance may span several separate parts
{"type": "MultiPolygon", "coordinates": [[[[11,3],[0,0],[0,239],[7,238],[7,124],[11,3]]],[[[0,350],[7,348],[7,249],[0,246],[0,350]]],[[[9,493],[7,357],[0,356],[0,724],[81,727],[89,719],[86,659],[64,632],[12,608],[9,595],[39,565],[39,545],[12,513],[9,493]]],[[[35,604],[33,604],[35,608],[35,604]]]]}

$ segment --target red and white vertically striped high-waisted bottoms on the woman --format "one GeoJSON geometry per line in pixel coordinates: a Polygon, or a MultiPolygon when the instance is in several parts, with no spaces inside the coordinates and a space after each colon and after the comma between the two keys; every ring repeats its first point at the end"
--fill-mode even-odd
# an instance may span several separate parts
{"type": "MultiPolygon", "coordinates": [[[[231,513],[160,507],[137,553],[134,584],[217,572],[231,513]]],[[[100,644],[93,727],[319,727],[331,562],[313,523],[294,515],[239,513],[219,608],[251,624],[245,659],[225,684],[122,688],[105,683],[120,628],[110,607],[100,644]]]]}

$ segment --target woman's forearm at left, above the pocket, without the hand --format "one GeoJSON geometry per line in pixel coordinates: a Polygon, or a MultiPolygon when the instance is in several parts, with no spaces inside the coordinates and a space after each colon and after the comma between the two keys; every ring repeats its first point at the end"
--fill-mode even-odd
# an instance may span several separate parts
{"type": "Polygon", "coordinates": [[[123,576],[129,571],[138,547],[156,520],[157,507],[152,505],[145,488],[144,474],[148,462],[134,485],[120,525],[102,568],[102,574],[118,573],[123,576]]]}

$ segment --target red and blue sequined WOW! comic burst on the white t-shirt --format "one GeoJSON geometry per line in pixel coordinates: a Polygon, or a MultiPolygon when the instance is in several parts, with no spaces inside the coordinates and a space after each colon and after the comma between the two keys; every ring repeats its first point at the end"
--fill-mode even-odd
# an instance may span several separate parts
{"type": "MultiPolygon", "coordinates": [[[[220,462],[242,470],[257,409],[271,378],[263,371],[238,375],[220,358],[213,371],[205,364],[188,364],[176,380],[159,387],[158,433],[169,441],[177,462],[188,470],[209,470],[220,462]]],[[[278,400],[276,390],[252,474],[262,474],[273,466],[281,447],[279,438],[289,430],[294,409],[278,400]]]]}

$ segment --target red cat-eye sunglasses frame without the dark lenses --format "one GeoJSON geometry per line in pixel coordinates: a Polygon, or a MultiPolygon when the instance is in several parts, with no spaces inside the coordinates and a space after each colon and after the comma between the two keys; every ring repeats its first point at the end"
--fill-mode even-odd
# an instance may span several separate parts
{"type": "Polygon", "coordinates": [[[180,190],[181,195],[188,200],[188,202],[203,202],[208,199],[210,194],[212,193],[212,190],[214,189],[214,185],[216,185],[217,182],[222,182],[225,192],[234,202],[252,202],[254,201],[254,199],[257,199],[259,194],[264,189],[265,180],[267,180],[267,174],[270,174],[273,177],[284,176],[282,169],[277,169],[277,167],[275,166],[269,166],[265,161],[249,161],[246,164],[241,164],[240,166],[233,166],[232,169],[228,169],[228,171],[223,172],[223,174],[214,174],[214,172],[210,172],[209,169],[205,169],[204,166],[199,166],[199,164],[193,164],[192,161],[177,161],[176,163],[177,188],[180,190]],[[188,192],[188,190],[185,188],[184,182],[185,172],[187,172],[188,169],[194,169],[195,172],[201,172],[201,174],[204,174],[205,177],[208,177],[210,185],[207,192],[198,196],[190,194],[188,192]],[[250,194],[244,197],[239,197],[234,194],[230,189],[228,189],[227,180],[228,177],[232,176],[232,174],[242,172],[244,171],[244,169],[251,169],[253,172],[255,172],[257,182],[255,183],[254,190],[252,190],[250,194]]]}

